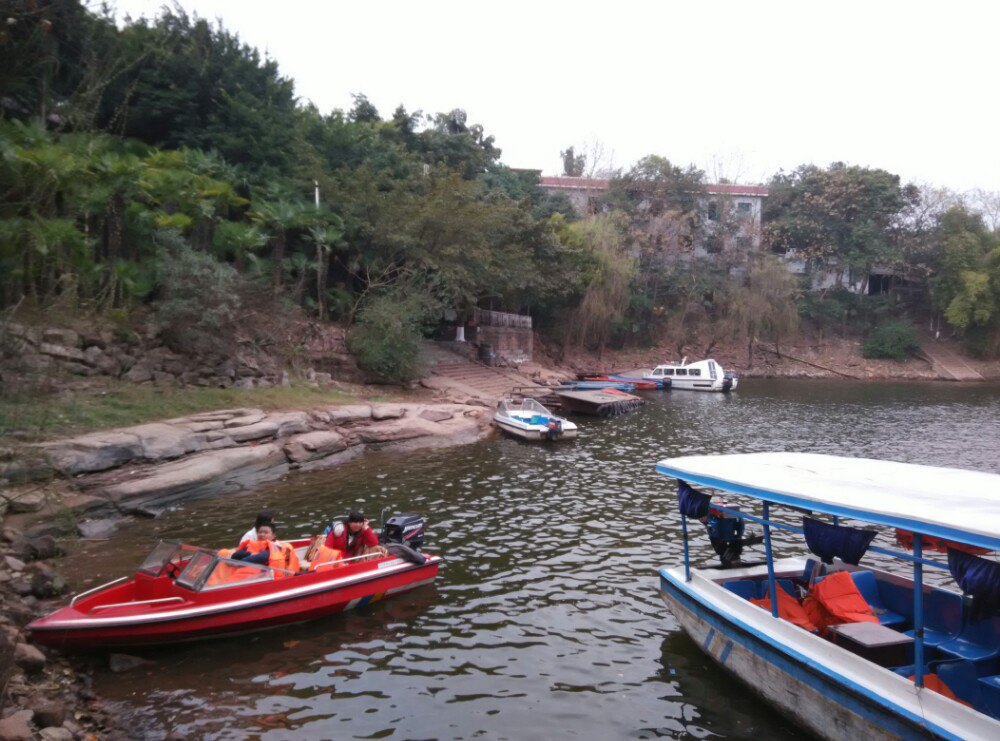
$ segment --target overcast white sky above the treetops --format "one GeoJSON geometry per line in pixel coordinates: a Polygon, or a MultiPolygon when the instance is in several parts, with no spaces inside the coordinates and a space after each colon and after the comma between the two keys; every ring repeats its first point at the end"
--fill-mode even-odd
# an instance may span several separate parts
{"type": "MultiPolygon", "coordinates": [[[[161,0],[115,0],[155,15],[161,0]]],[[[710,179],[842,160],[1000,191],[1000,3],[180,0],[323,112],[464,108],[512,167],[603,145],[710,179]]],[[[607,164],[607,162],[605,162],[607,164]]]]}

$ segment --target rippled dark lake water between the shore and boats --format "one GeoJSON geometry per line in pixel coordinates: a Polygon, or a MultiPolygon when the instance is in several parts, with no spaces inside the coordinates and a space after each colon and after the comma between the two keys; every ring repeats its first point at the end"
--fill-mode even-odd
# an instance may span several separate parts
{"type": "Polygon", "coordinates": [[[263,507],[289,536],[388,507],[425,514],[426,549],[446,559],[434,586],[353,613],[148,651],[125,674],[91,659],[95,690],[144,738],[809,738],[660,601],[656,570],[681,543],[654,462],[788,450],[1000,473],[1000,388],[749,380],[648,398],[627,417],[578,418],[576,441],[369,454],[82,544],[66,564],[78,587],[120,576],[158,538],[232,545],[263,507]]]}

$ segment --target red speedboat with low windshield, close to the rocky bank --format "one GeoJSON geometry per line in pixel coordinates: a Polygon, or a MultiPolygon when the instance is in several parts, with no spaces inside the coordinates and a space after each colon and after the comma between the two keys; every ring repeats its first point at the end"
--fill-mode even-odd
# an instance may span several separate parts
{"type": "MultiPolygon", "coordinates": [[[[303,554],[308,540],[290,541],[303,554]]],[[[292,573],[160,542],[135,572],[77,595],[28,626],[62,649],[189,641],[298,623],[430,584],[440,556],[387,544],[388,556],[292,573]]]]}

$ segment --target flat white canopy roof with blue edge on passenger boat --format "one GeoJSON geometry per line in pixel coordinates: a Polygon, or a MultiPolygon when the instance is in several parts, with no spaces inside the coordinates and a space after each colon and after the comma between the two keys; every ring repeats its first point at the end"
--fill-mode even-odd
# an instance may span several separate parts
{"type": "Polygon", "coordinates": [[[693,485],[1000,550],[1000,475],[819,453],[667,458],[693,485]]]}

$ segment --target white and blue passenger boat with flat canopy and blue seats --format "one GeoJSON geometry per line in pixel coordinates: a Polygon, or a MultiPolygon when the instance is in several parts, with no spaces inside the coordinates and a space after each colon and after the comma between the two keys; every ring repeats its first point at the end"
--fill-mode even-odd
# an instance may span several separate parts
{"type": "Polygon", "coordinates": [[[806,453],[656,468],[679,482],[684,537],[661,596],[755,693],[828,739],[1000,739],[1000,564],[975,555],[1000,549],[1000,475],[806,453]],[[755,501],[741,510],[708,490],[755,501]],[[729,568],[692,564],[689,518],[729,568]],[[745,522],[763,527],[766,561],[739,562],[745,522]],[[877,531],[858,524],[912,533],[912,554],[871,545],[877,531]],[[775,529],[804,535],[823,563],[775,558],[775,529]],[[872,552],[907,573],[861,565],[872,552]],[[958,588],[925,583],[925,569],[958,588]]]}

